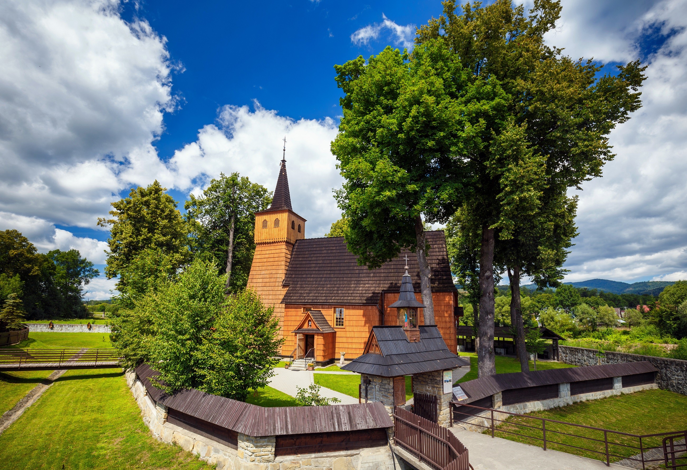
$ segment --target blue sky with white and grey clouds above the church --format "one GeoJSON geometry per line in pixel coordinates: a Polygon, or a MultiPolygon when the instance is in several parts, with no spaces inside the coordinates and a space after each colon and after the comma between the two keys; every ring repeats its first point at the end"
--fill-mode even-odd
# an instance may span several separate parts
{"type": "MultiPolygon", "coordinates": [[[[649,64],[644,107],[583,184],[567,280],[687,278],[687,5],[563,0],[546,40],[572,57],[649,64]]],[[[530,6],[531,1],[526,2],[530,6]]],[[[306,236],[339,217],[333,65],[412,45],[439,1],[7,0],[0,5],[0,230],[102,268],[95,226],[157,179],[183,200],[220,171],[272,190],[281,139],[306,236]]],[[[107,297],[112,280],[89,286],[107,297]]]]}

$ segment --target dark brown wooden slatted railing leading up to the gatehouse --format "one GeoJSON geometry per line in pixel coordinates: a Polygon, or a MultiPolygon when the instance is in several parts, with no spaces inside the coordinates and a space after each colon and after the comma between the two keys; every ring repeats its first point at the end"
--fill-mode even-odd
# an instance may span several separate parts
{"type": "Polygon", "coordinates": [[[448,429],[394,408],[394,442],[435,470],[470,470],[468,449],[448,429]]]}

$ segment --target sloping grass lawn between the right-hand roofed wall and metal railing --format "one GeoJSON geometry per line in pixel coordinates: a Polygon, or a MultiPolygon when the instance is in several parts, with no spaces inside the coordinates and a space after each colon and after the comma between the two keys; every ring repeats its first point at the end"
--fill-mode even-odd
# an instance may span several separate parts
{"type": "MultiPolygon", "coordinates": [[[[687,428],[687,396],[668,392],[667,390],[645,390],[644,392],[611,396],[600,400],[575,403],[574,405],[562,408],[548,409],[543,412],[534,412],[528,414],[528,416],[537,416],[539,418],[549,418],[565,421],[567,423],[612,429],[614,431],[622,431],[630,434],[653,434],[668,431],[681,431],[687,428]]],[[[533,436],[535,438],[542,437],[541,422],[528,420],[527,418],[521,418],[519,416],[509,419],[507,423],[504,423],[499,428],[505,431],[526,434],[527,436],[533,436]],[[539,429],[530,429],[518,426],[518,424],[535,426],[539,429]]],[[[534,438],[513,436],[499,431],[497,431],[495,435],[505,439],[541,446],[541,440],[534,438]]],[[[549,440],[553,441],[548,444],[548,448],[550,449],[574,453],[589,458],[596,458],[597,460],[605,460],[606,458],[603,433],[595,431],[594,429],[546,423],[546,439],[547,442],[549,440]],[[587,436],[589,438],[599,439],[601,442],[563,436],[553,431],[587,436]],[[564,445],[556,445],[555,442],[565,442],[569,445],[585,447],[586,449],[593,449],[601,453],[573,449],[572,447],[566,447],[564,445]]],[[[609,442],[639,447],[638,439],[620,436],[618,434],[609,434],[608,440],[609,442]]],[[[662,445],[661,442],[662,438],[642,439],[644,448],[660,446],[662,445]]],[[[609,453],[629,457],[639,453],[639,451],[638,449],[630,449],[628,447],[622,447],[621,445],[611,444],[609,445],[609,453]]],[[[617,460],[621,460],[621,458],[611,458],[611,462],[617,460]]]]}

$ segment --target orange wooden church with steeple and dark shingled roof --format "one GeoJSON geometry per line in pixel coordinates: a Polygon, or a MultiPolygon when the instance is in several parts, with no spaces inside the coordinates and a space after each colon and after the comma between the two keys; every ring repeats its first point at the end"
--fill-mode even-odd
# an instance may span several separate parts
{"type": "MultiPolygon", "coordinates": [[[[401,277],[408,273],[421,302],[420,275],[414,253],[403,253],[381,268],[358,266],[343,237],[306,238],[306,220],[291,207],[286,161],[282,160],[271,206],[256,213],[256,251],[248,286],[267,306],[274,306],[286,341],[283,356],[313,357],[318,365],[363,354],[377,325],[423,325],[423,308],[390,308],[398,300],[401,277]],[[403,312],[403,313],[401,313],[403,312]],[[403,316],[404,318],[399,318],[403,316]]],[[[431,246],[434,319],[449,351],[458,349],[458,291],[453,285],[446,239],[442,231],[427,232],[431,246]]]]}

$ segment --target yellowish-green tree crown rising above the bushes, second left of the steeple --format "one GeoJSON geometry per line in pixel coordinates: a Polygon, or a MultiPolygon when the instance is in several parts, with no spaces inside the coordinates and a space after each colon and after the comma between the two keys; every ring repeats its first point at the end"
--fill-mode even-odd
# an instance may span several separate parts
{"type": "Polygon", "coordinates": [[[172,259],[176,267],[190,257],[188,228],[177,209],[177,202],[165,193],[157,180],[146,188],[132,189],[128,197],[113,202],[111,219],[98,219],[98,225],[110,227],[107,240],[105,274],[108,279],[120,276],[117,290],[128,289],[128,265],[146,249],[159,250],[172,259]]]}

